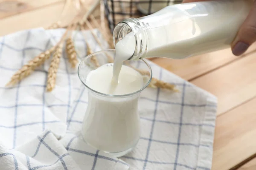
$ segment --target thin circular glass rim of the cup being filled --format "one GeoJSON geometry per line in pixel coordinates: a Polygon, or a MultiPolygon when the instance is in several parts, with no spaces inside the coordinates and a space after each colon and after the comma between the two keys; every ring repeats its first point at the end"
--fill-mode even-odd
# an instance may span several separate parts
{"type": "MultiPolygon", "coordinates": [[[[145,61],[145,59],[141,59],[149,68],[149,72],[150,72],[150,77],[148,79],[148,82],[138,91],[135,91],[133,93],[129,93],[129,94],[105,94],[105,93],[101,93],[99,91],[96,91],[96,90],[93,90],[92,88],[90,88],[80,77],[80,74],[79,74],[79,68],[81,67],[81,63],[83,63],[87,58],[90,58],[91,56],[95,55],[95,54],[99,54],[99,53],[104,53],[106,51],[111,51],[111,52],[116,52],[115,49],[108,49],[108,50],[101,50],[101,51],[97,51],[97,52],[94,52],[93,54],[90,54],[88,56],[86,56],[84,59],[81,60],[81,62],[79,63],[79,66],[78,66],[78,70],[77,70],[77,73],[78,73],[78,77],[80,79],[80,81],[82,82],[82,84],[88,88],[90,91],[93,91],[94,93],[96,94],[99,94],[99,95],[102,95],[102,96],[108,96],[108,97],[126,97],[126,96],[132,96],[134,94],[137,94],[137,93],[140,93],[141,91],[143,91],[148,85],[149,83],[151,82],[151,79],[152,79],[152,69],[151,69],[151,66],[148,64],[148,62],[145,61]]],[[[139,61],[138,61],[139,62],[139,61]]]]}

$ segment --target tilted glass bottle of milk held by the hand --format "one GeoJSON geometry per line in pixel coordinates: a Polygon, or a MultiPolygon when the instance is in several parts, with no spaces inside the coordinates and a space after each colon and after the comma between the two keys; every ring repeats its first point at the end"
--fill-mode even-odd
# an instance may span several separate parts
{"type": "Polygon", "coordinates": [[[217,51],[230,47],[252,3],[214,0],[167,6],[145,17],[122,20],[113,31],[113,41],[132,60],[183,59],[217,51]]]}

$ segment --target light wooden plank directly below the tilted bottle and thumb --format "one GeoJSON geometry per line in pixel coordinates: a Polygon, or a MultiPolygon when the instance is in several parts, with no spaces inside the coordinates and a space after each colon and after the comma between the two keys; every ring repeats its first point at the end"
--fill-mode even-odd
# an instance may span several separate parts
{"type": "MultiPolygon", "coordinates": [[[[247,53],[255,49],[254,44],[247,53]]],[[[239,58],[234,56],[228,48],[187,59],[154,58],[152,61],[183,79],[190,80],[239,58]]]]}

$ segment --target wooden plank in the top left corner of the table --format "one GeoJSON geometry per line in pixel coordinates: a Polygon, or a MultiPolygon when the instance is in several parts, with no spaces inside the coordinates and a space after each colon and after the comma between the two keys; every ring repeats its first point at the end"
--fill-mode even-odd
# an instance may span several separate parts
{"type": "Polygon", "coordinates": [[[0,19],[25,11],[32,11],[64,0],[1,0],[0,19]]]}

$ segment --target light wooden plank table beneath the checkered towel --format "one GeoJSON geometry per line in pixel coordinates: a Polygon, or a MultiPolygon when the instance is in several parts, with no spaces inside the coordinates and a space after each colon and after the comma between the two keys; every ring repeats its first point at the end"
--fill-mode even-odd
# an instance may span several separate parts
{"type": "MultiPolygon", "coordinates": [[[[0,36],[58,21],[65,0],[0,0],[0,36]]],[[[64,24],[76,14],[69,10],[64,24]]],[[[256,170],[256,45],[155,63],[218,97],[212,170],[256,170]]]]}

